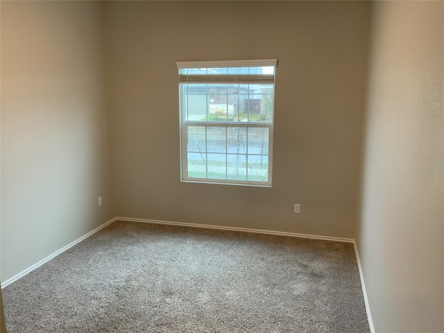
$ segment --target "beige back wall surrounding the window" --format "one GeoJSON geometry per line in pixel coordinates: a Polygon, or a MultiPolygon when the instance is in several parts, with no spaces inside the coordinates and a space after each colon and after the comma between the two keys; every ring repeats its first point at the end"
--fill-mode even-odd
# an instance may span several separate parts
{"type": "Polygon", "coordinates": [[[119,216],[353,237],[369,3],[106,6],[119,216]],[[176,61],[278,58],[273,187],[180,182],[176,61]],[[301,213],[293,213],[293,204],[301,213]]]}

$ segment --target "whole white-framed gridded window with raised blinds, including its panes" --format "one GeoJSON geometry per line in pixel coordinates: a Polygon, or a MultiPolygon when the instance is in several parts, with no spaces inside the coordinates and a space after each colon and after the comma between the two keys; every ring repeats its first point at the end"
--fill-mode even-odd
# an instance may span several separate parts
{"type": "Polygon", "coordinates": [[[277,63],[177,62],[182,181],[271,186],[277,63]]]}

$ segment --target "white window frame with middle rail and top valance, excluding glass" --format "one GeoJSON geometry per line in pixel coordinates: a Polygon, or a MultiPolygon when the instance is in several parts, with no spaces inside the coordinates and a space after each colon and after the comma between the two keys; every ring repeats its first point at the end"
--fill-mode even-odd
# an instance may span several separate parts
{"type": "MultiPolygon", "coordinates": [[[[276,67],[277,59],[266,60],[227,60],[227,61],[196,61],[196,62],[176,62],[177,68],[193,69],[193,68],[224,68],[224,67],[276,67]]],[[[274,124],[274,99],[275,99],[275,68],[273,75],[271,74],[219,74],[218,76],[208,75],[187,75],[179,74],[179,112],[180,112],[180,170],[182,182],[199,182],[210,184],[227,184],[227,185],[248,185],[259,187],[271,187],[273,174],[273,124],[274,124]],[[210,80],[210,82],[208,81],[210,80]],[[185,81],[186,80],[186,81],[185,81]],[[184,93],[182,92],[183,83],[227,83],[234,80],[236,83],[273,83],[273,111],[271,121],[191,121],[187,118],[185,112],[184,93]],[[194,178],[188,176],[188,160],[187,160],[187,139],[188,126],[220,127],[220,128],[268,128],[268,180],[232,180],[232,179],[214,179],[214,178],[194,178]]],[[[226,155],[227,153],[225,153],[226,155]]],[[[247,153],[248,156],[248,153],[247,153]]],[[[205,164],[207,166],[207,164],[205,164]]],[[[248,179],[248,171],[247,171],[248,179]]]]}

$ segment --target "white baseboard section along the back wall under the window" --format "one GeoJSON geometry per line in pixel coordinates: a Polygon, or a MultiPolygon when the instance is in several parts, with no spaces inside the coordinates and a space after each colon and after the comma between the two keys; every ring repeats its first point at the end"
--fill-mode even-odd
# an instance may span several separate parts
{"type": "Polygon", "coordinates": [[[317,236],[317,235],[314,235],[314,234],[295,234],[293,232],[281,232],[281,231],[262,230],[262,229],[225,227],[225,226],[221,226],[221,225],[210,225],[210,224],[158,221],[158,220],[149,220],[149,219],[133,219],[133,218],[130,218],[130,217],[116,217],[114,219],[114,221],[128,221],[128,222],[141,222],[141,223],[179,225],[179,226],[182,226],[182,227],[192,227],[192,228],[205,228],[205,229],[253,232],[255,234],[275,234],[275,235],[278,235],[278,236],[289,236],[289,237],[310,238],[310,239],[322,239],[324,241],[343,241],[343,242],[346,242],[346,243],[354,243],[355,242],[355,239],[351,239],[351,238],[325,237],[325,236],[317,236]]]}

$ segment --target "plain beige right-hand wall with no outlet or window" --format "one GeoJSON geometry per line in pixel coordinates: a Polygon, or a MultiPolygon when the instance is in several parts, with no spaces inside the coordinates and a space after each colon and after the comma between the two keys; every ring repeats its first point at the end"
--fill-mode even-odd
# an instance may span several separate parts
{"type": "Polygon", "coordinates": [[[357,237],[376,332],[444,332],[444,2],[378,2],[357,237]]]}

